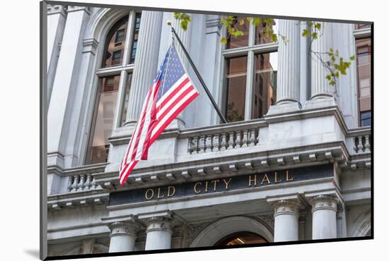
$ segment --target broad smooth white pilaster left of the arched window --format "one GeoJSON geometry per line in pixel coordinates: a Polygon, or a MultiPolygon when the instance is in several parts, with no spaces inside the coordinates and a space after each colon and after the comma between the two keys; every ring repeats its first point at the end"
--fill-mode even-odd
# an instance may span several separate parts
{"type": "Polygon", "coordinates": [[[90,8],[68,6],[57,71],[47,111],[47,165],[64,168],[66,140],[72,128],[71,112],[80,73],[83,35],[88,25],[90,8]]]}

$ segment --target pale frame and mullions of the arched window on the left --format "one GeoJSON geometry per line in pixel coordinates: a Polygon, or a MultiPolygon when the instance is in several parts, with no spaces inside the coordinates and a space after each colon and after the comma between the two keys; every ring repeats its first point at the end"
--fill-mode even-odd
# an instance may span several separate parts
{"type": "MultiPolygon", "coordinates": [[[[95,56],[95,64],[97,66],[97,69],[95,69],[94,73],[94,82],[93,82],[93,98],[91,99],[91,116],[88,120],[88,137],[86,138],[86,148],[83,150],[83,157],[82,157],[82,164],[83,165],[91,165],[94,163],[88,162],[88,155],[90,154],[91,150],[91,144],[93,142],[93,133],[94,133],[94,124],[95,124],[95,107],[98,105],[96,102],[98,101],[98,89],[100,87],[100,78],[112,76],[112,75],[120,75],[120,81],[119,86],[117,90],[117,102],[115,104],[114,110],[114,118],[112,123],[112,133],[117,128],[123,128],[123,126],[120,126],[120,121],[122,118],[122,110],[124,108],[124,95],[126,90],[126,83],[127,78],[130,73],[134,72],[134,63],[130,63],[130,56],[131,56],[131,50],[132,50],[132,40],[134,37],[134,25],[135,25],[135,19],[137,16],[137,13],[141,13],[141,11],[129,11],[126,13],[121,13],[120,16],[115,19],[115,21],[112,21],[110,26],[108,27],[108,30],[105,32],[104,37],[102,37],[100,47],[98,49],[98,55],[95,56]],[[107,40],[108,33],[112,29],[112,27],[122,19],[124,16],[128,16],[128,22],[127,22],[127,30],[126,34],[124,35],[124,49],[122,50],[123,58],[122,62],[119,65],[110,66],[110,67],[103,67],[103,52],[105,51],[105,41],[107,40]]],[[[141,22],[140,22],[141,23],[141,22]]],[[[128,112],[127,112],[128,113],[128,112]]],[[[110,144],[109,151],[112,150],[112,145],[110,144]]],[[[109,152],[108,152],[108,162],[109,162],[109,152]]]]}

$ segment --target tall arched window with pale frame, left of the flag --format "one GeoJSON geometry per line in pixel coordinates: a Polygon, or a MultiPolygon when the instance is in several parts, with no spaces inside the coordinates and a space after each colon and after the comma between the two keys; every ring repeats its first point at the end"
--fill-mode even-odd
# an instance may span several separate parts
{"type": "Polygon", "coordinates": [[[141,13],[130,12],[105,37],[86,164],[107,162],[112,129],[126,120],[140,22],[141,13]]]}

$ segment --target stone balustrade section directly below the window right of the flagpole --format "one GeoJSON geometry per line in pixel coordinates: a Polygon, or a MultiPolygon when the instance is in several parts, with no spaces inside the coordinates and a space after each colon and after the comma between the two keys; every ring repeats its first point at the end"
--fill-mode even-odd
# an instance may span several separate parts
{"type": "Polygon", "coordinates": [[[189,154],[218,152],[240,147],[251,147],[258,143],[259,128],[211,131],[188,138],[189,154]]]}

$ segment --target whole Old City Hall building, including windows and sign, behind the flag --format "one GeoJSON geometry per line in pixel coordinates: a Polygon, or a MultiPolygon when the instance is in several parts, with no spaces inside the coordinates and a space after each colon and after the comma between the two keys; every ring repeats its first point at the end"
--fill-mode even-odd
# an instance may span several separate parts
{"type": "Polygon", "coordinates": [[[272,42],[190,16],[47,5],[48,255],[370,236],[370,26],[322,23],[314,51],[356,56],[332,86],[307,23],[275,19],[289,41],[272,42]],[[167,20],[228,123],[178,48],[200,95],[120,186],[167,20]]]}

